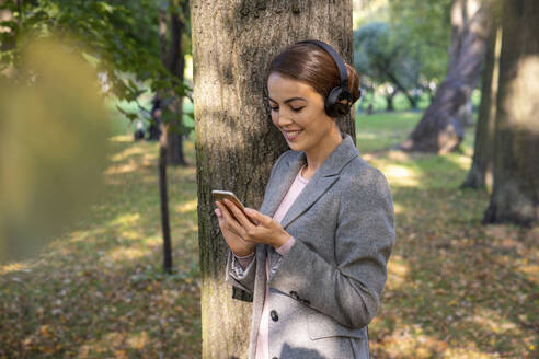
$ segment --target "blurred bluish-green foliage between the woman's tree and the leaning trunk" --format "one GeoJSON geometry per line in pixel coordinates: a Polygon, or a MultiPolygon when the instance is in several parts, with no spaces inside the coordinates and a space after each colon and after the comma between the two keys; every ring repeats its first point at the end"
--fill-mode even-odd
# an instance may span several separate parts
{"type": "Polygon", "coordinates": [[[365,101],[378,94],[388,102],[402,93],[417,108],[423,93],[432,100],[447,71],[451,0],[356,1],[355,66],[365,101]],[[405,91],[403,91],[405,89],[405,91]]]}

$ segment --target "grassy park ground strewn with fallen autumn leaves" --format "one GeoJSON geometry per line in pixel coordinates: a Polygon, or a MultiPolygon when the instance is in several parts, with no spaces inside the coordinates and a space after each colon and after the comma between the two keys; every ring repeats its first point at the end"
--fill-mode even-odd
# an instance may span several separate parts
{"type": "MultiPolygon", "coordinates": [[[[416,114],[359,116],[362,155],[387,175],[397,245],[375,358],[539,357],[539,229],[481,225],[486,192],[459,153],[391,150],[416,114]]],[[[32,260],[0,265],[0,358],[198,358],[194,166],[169,170],[175,273],[161,271],[157,144],[112,139],[106,192],[32,260]]],[[[194,163],[193,143],[186,143],[194,163]]]]}

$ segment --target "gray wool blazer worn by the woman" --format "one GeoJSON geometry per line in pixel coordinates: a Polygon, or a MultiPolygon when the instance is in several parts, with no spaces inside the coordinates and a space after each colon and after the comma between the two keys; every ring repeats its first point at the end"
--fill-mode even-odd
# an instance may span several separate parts
{"type": "MultiPolygon", "coordinates": [[[[254,358],[270,256],[270,358],[369,358],[367,324],[380,306],[394,244],[386,177],[365,162],[352,138],[311,177],[282,221],[296,239],[280,257],[256,245],[243,271],[229,253],[226,280],[253,294],[250,358],[254,358]]],[[[260,211],[273,217],[299,169],[302,151],[275,162],[260,211]]]]}

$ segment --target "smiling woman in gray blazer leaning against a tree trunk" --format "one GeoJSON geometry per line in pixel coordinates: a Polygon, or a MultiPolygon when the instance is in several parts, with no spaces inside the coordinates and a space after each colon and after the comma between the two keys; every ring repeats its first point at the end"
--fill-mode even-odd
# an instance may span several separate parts
{"type": "Polygon", "coordinates": [[[328,44],[279,54],[267,101],[290,150],[275,162],[260,211],[245,209],[256,224],[232,202],[216,202],[231,250],[227,281],[254,298],[250,358],[369,357],[367,324],[394,231],[385,176],[337,125],[358,83],[328,44]]]}

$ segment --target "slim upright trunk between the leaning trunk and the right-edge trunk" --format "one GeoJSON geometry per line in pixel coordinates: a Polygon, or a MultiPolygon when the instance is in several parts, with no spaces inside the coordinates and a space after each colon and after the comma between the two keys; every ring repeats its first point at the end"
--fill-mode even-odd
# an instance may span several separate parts
{"type": "Polygon", "coordinates": [[[494,125],[496,118],[496,99],[500,74],[500,53],[502,50],[502,28],[491,25],[486,58],[483,70],[481,104],[479,106],[478,125],[473,162],[461,187],[485,188],[492,185],[492,167],[494,157],[494,125]]]}

